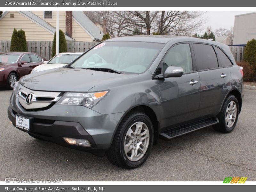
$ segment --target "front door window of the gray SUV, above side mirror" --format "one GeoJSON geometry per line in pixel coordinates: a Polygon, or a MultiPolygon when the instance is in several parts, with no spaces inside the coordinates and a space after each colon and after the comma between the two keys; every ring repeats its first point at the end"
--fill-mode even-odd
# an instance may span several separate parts
{"type": "Polygon", "coordinates": [[[181,67],[184,73],[193,71],[192,58],[188,43],[172,47],[163,59],[163,71],[169,66],[181,67]]]}

